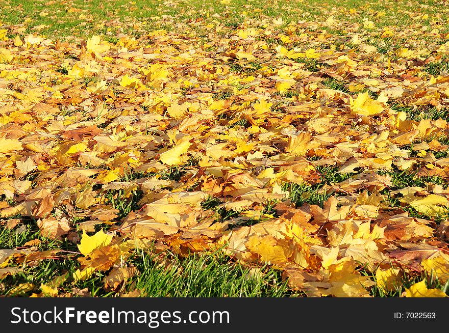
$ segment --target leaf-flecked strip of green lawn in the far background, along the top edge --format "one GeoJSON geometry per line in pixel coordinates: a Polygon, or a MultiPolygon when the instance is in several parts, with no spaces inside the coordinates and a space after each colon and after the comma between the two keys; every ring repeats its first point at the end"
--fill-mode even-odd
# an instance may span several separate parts
{"type": "MultiPolygon", "coordinates": [[[[442,17],[444,13],[439,11],[439,7],[429,1],[420,1],[420,3],[429,3],[430,6],[416,6],[415,2],[407,2],[401,0],[392,3],[371,3],[367,6],[359,0],[338,0],[330,2],[328,0],[310,0],[307,2],[289,2],[285,3],[266,3],[262,0],[255,0],[247,3],[244,0],[232,0],[228,5],[220,2],[206,1],[180,1],[177,6],[166,6],[163,0],[147,2],[145,0],[136,0],[129,2],[127,0],[117,1],[99,1],[93,0],[84,2],[82,0],[74,0],[71,3],[37,1],[19,1],[11,0],[0,1],[0,12],[2,13],[2,21],[4,24],[19,24],[24,20],[25,34],[35,33],[36,31],[42,35],[55,36],[59,38],[71,38],[72,36],[86,36],[93,33],[104,35],[104,39],[115,43],[118,33],[127,33],[140,37],[144,34],[144,29],[176,29],[176,24],[182,21],[189,21],[192,18],[192,12],[196,13],[194,18],[201,17],[205,22],[213,22],[212,13],[226,17],[223,20],[227,29],[238,29],[247,18],[259,18],[261,11],[254,9],[263,8],[263,15],[268,17],[282,17],[286,26],[289,23],[301,19],[322,19],[329,16],[329,12],[333,8],[345,8],[345,10],[333,13],[334,18],[340,20],[354,20],[354,14],[350,9],[357,12],[356,20],[363,23],[363,18],[369,18],[375,23],[376,27],[396,25],[399,27],[408,26],[416,22],[416,14],[428,14],[432,18],[442,17]],[[249,6],[242,11],[242,6],[249,6]],[[388,15],[376,16],[376,13],[384,12],[388,15]],[[165,19],[161,16],[165,15],[165,19]],[[105,24],[108,22],[105,18],[120,18],[119,24],[105,24]],[[139,22],[142,29],[136,29],[130,22],[139,22]],[[35,27],[39,29],[36,30],[35,27]]],[[[422,21],[424,24],[429,24],[422,21]]],[[[420,21],[421,22],[421,21],[420,21]]],[[[194,27],[193,29],[196,29],[194,27]]],[[[201,28],[199,28],[202,31],[201,28]]],[[[324,27],[320,31],[325,30],[326,33],[336,37],[345,37],[345,31],[334,29],[333,27],[324,27]]],[[[447,23],[443,22],[442,31],[447,30],[447,23]]],[[[376,37],[376,40],[370,44],[379,47],[379,51],[388,52],[391,45],[382,44],[383,38],[376,37]]]]}

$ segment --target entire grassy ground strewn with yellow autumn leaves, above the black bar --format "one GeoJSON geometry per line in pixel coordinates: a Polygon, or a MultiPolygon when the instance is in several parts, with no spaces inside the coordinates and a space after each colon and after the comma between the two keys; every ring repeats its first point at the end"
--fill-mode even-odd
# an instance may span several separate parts
{"type": "Polygon", "coordinates": [[[447,295],[446,2],[21,3],[1,294],[447,295]]]}

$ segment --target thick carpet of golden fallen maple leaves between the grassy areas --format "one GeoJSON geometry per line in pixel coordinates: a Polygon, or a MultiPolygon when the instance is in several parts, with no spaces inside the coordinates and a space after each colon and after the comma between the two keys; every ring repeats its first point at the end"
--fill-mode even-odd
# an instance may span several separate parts
{"type": "MultiPolygon", "coordinates": [[[[374,24],[215,20],[207,43],[190,28],[117,43],[4,38],[0,216],[77,243],[73,280],[109,272],[111,289],[135,274],[123,258],[152,242],[183,256],[222,247],[282,270],[308,296],[369,296],[416,272],[445,283],[449,74],[424,69],[447,61],[449,44],[387,57],[368,44],[374,24]],[[398,105],[446,118],[411,119],[398,105]],[[327,179],[329,166],[343,180],[327,179]],[[409,174],[425,181],[398,185],[409,174]]],[[[2,277],[17,258],[51,255],[0,251],[2,277]]],[[[422,295],[444,293],[423,282],[405,293],[422,295]]]]}

